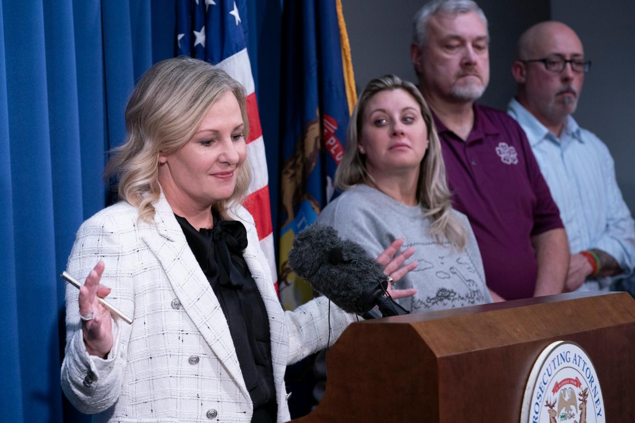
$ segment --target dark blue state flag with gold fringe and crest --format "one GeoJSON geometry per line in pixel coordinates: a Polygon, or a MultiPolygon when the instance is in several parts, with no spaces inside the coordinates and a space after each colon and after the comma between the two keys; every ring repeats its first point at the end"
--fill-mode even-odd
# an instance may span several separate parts
{"type": "Polygon", "coordinates": [[[278,281],[284,308],[294,309],[312,298],[312,289],[290,270],[288,252],[295,234],[333,197],[357,101],[340,1],[284,1],[282,54],[278,281]]]}

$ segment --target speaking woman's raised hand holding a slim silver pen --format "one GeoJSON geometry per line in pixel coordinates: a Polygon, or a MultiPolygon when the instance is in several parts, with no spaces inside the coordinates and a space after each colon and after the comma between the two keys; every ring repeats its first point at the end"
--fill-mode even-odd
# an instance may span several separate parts
{"type": "Polygon", "coordinates": [[[110,288],[100,285],[104,262],[100,261],[90,271],[84,286],[79,289],[79,314],[86,351],[90,355],[105,357],[112,349],[112,325],[110,311],[99,303],[97,297],[110,294],[110,288]]]}

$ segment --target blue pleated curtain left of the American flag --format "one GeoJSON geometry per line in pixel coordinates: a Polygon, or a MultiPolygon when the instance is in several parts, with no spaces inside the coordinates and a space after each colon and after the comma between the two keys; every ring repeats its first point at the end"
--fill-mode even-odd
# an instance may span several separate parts
{"type": "Polygon", "coordinates": [[[152,7],[0,0],[0,420],[88,421],[60,389],[58,275],[106,204],[105,152],[124,140],[135,81],[173,55],[173,1],[152,7]]]}

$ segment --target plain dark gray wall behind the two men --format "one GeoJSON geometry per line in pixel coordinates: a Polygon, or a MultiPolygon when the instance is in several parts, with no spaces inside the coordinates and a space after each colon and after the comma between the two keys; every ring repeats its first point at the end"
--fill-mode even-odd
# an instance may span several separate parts
{"type": "MultiPolygon", "coordinates": [[[[635,2],[614,0],[482,0],[490,25],[491,79],[481,102],[504,109],[516,86],[511,63],[523,30],[553,18],[571,25],[594,62],[587,75],[575,118],[598,134],[615,159],[624,199],[635,211],[635,140],[629,123],[635,120],[635,2]],[[610,4],[607,6],[606,4],[610,4]]],[[[370,79],[387,73],[415,81],[410,63],[412,16],[425,1],[342,0],[351,42],[358,93],[370,79]]]]}

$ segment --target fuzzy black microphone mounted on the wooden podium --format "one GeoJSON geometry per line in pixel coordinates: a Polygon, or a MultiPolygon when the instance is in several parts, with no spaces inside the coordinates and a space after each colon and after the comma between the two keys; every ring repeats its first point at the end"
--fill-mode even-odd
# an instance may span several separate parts
{"type": "Polygon", "coordinates": [[[316,222],[295,236],[289,266],[313,289],[348,313],[368,313],[378,306],[383,316],[406,315],[408,311],[387,295],[389,278],[381,264],[361,245],[342,240],[335,229],[316,222]]]}

